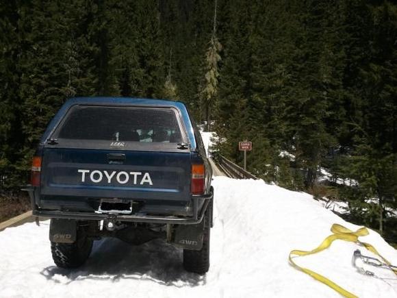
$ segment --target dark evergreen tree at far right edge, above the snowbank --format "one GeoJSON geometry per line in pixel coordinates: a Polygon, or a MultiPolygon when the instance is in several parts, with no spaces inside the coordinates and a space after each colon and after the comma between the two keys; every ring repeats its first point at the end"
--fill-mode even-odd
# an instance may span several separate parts
{"type": "MultiPolygon", "coordinates": [[[[344,195],[357,216],[383,232],[387,204],[396,198],[396,40],[397,6],[385,1],[353,7],[359,23],[348,54],[355,61],[355,79],[347,81],[353,110],[353,149],[344,159],[342,175],[357,180],[344,195]]],[[[351,71],[350,71],[351,73],[351,71]]]]}

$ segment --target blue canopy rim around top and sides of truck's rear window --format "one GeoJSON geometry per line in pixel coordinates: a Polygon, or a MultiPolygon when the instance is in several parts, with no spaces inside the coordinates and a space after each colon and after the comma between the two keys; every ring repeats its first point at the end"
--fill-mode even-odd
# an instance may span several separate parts
{"type": "Polygon", "coordinates": [[[185,104],[181,101],[170,101],[165,99],[144,99],[144,98],[134,98],[134,97],[74,97],[68,99],[60,108],[60,110],[55,114],[51,122],[49,123],[46,132],[44,132],[42,138],[40,139],[40,144],[44,144],[49,138],[53,129],[62,120],[66,112],[73,105],[142,105],[151,107],[173,107],[177,108],[181,112],[183,118],[183,123],[187,129],[188,138],[190,139],[190,144],[192,149],[196,149],[196,140],[194,139],[194,131],[192,123],[190,121],[190,116],[185,104]]]}

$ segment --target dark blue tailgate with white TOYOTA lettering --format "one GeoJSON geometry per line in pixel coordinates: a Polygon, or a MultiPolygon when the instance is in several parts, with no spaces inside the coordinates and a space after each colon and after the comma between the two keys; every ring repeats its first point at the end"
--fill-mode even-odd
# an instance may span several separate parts
{"type": "Polygon", "coordinates": [[[40,199],[190,200],[190,152],[44,148],[40,199]]]}

